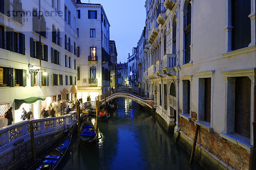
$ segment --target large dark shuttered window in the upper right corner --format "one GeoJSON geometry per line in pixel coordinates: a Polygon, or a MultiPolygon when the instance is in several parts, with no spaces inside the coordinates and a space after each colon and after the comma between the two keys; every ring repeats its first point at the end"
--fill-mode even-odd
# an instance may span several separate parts
{"type": "Polygon", "coordinates": [[[247,47],[251,42],[250,0],[232,0],[232,50],[247,47]]]}

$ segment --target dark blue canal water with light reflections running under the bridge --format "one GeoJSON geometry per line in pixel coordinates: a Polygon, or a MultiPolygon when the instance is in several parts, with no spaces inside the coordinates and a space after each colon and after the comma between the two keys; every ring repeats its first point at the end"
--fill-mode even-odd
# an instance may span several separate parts
{"type": "Polygon", "coordinates": [[[173,134],[139,104],[119,98],[109,122],[99,122],[96,146],[78,144],[73,135],[59,170],[203,170],[173,141],[173,134]]]}

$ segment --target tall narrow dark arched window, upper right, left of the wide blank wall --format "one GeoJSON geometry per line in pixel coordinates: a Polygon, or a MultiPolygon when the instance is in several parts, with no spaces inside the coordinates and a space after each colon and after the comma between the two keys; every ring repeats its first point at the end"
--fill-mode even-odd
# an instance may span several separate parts
{"type": "Polygon", "coordinates": [[[189,63],[190,61],[190,45],[191,45],[191,0],[185,4],[184,11],[184,34],[185,34],[185,42],[184,42],[184,49],[185,49],[185,63],[189,63]]]}

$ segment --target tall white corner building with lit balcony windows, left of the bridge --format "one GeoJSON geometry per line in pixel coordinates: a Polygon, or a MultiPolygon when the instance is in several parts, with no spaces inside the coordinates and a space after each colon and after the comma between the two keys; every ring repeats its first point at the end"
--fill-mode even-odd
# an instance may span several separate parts
{"type": "Polygon", "coordinates": [[[108,18],[101,4],[77,3],[78,98],[92,100],[107,92],[111,81],[108,18]]]}

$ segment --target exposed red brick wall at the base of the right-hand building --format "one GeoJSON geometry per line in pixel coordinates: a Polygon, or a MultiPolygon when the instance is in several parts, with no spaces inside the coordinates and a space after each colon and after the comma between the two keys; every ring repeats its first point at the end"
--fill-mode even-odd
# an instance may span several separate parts
{"type": "MultiPolygon", "coordinates": [[[[191,119],[191,123],[189,123],[186,119],[180,117],[180,130],[189,138],[194,139],[194,122],[197,120],[196,112],[191,112],[191,119]]],[[[247,150],[237,144],[222,139],[218,133],[214,132],[211,134],[208,130],[200,128],[197,143],[233,169],[248,169],[250,154],[247,153],[247,150]]]]}

